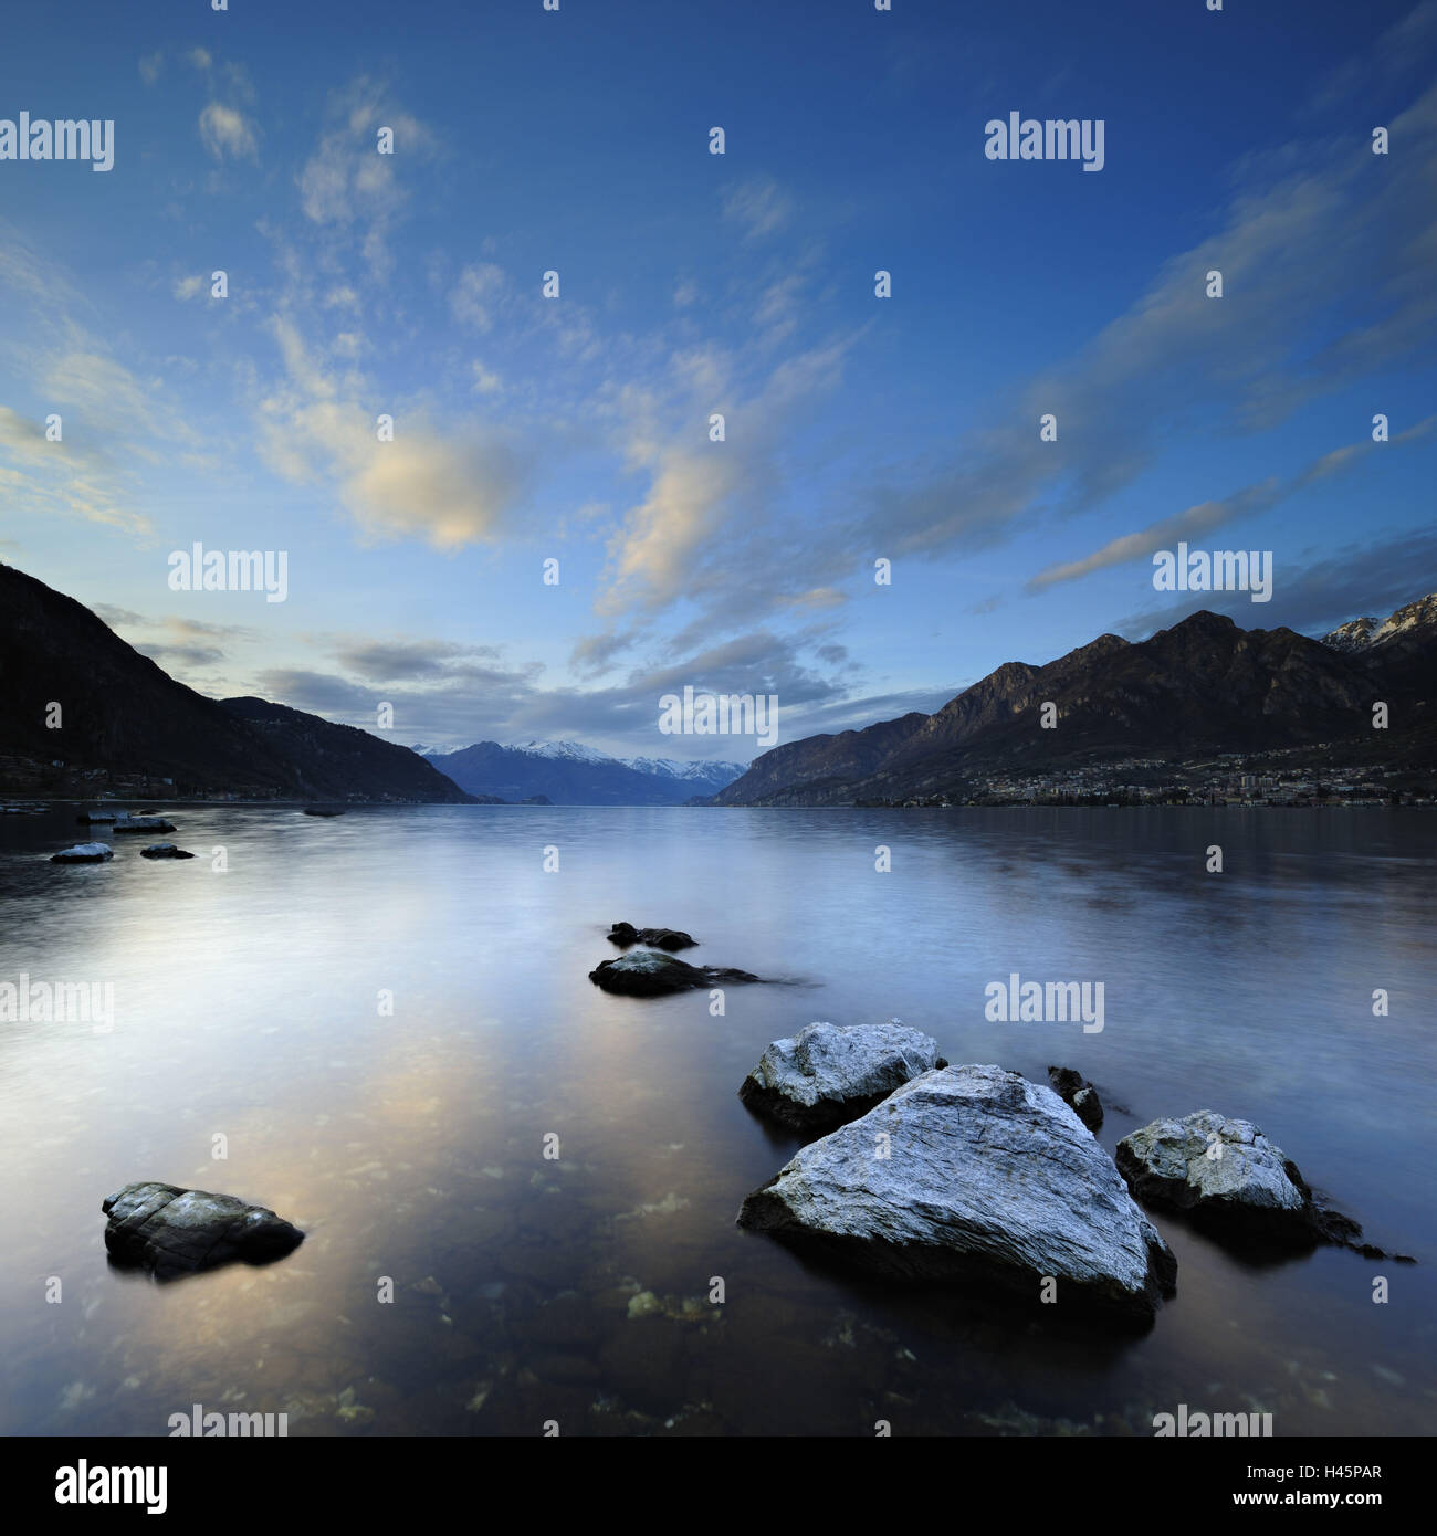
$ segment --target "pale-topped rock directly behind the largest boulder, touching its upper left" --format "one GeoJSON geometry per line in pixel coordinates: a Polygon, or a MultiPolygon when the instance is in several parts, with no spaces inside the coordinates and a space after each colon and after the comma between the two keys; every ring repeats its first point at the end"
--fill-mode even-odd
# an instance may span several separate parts
{"type": "Polygon", "coordinates": [[[830,1130],[867,1114],[910,1078],[947,1064],[931,1035],[898,1018],[805,1025],[768,1046],[738,1097],[796,1130],[830,1130]]]}

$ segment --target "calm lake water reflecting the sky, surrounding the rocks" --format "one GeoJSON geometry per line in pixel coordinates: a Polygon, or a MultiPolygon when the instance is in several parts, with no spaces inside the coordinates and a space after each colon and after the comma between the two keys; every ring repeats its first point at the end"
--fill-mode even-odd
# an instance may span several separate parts
{"type": "Polygon", "coordinates": [[[6,1433],[164,1435],[197,1402],[290,1435],[1151,1435],[1180,1402],[1437,1430],[1429,813],[158,808],[201,857],[120,837],[49,865],[89,836],[77,808],[0,817],[0,982],[115,998],[108,1032],[0,1025],[6,1433]],[[799,985],[732,988],[724,1017],[604,995],[619,919],[799,985]],[[1103,982],[1103,1031],[985,1021],[1014,971],[1103,982]],[[1256,1120],[1420,1263],[1254,1266],[1154,1213],[1179,1293],[1114,1338],[741,1232],[798,1146],[744,1074],[810,1020],[890,1017],[954,1063],[1079,1068],[1110,1150],[1159,1115],[1256,1120]],[[120,1273],[100,1201],[135,1180],[307,1238],[266,1269],[120,1273]]]}

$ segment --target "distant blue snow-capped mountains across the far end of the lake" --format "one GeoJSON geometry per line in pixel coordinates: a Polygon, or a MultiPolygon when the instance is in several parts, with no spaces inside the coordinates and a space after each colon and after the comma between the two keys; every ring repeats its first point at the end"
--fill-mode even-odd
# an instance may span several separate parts
{"type": "Polygon", "coordinates": [[[415,748],[470,794],[553,805],[682,805],[716,794],[742,763],[689,763],[670,757],[610,757],[581,742],[475,742],[453,751],[415,748]]]}

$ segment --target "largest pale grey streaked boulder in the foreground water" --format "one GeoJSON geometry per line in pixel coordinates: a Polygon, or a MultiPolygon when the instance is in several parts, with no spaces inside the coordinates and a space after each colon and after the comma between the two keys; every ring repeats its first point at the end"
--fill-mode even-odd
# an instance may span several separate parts
{"type": "Polygon", "coordinates": [[[997,1066],[913,1078],[804,1147],[738,1220],[905,1281],[981,1283],[1036,1303],[1053,1276],[1060,1306],[1137,1322],[1177,1275],[1077,1115],[997,1066]]]}

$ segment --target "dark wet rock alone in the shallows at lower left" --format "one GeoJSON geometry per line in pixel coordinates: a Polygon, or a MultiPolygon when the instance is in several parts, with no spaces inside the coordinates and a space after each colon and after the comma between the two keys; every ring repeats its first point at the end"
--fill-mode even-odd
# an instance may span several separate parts
{"type": "Polygon", "coordinates": [[[232,1260],[267,1264],[294,1252],[304,1233],[264,1206],[174,1184],[126,1184],[100,1207],[105,1246],[126,1266],[172,1279],[232,1260]]]}

